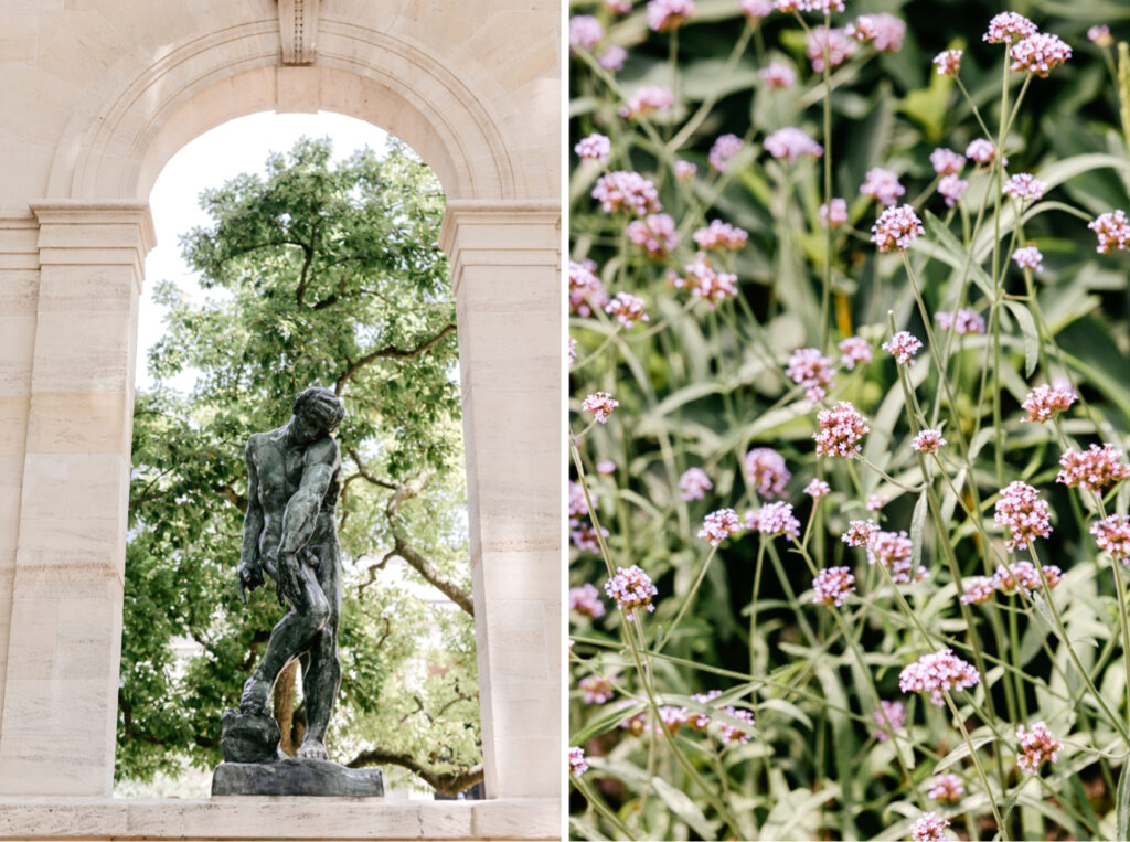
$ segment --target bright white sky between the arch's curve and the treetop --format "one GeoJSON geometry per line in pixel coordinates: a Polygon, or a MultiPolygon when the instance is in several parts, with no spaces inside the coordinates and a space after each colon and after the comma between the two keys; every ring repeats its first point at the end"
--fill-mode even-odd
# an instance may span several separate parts
{"type": "MultiPolygon", "coordinates": [[[[148,350],[164,329],[162,309],[153,302],[155,281],[175,280],[182,288],[201,295],[195,274],[181,260],[180,236],[197,225],[208,225],[198,197],[206,188],[219,186],[240,173],[261,173],[272,151],[289,151],[303,136],[333,141],[333,158],[348,157],[354,149],[384,147],[388,133],[354,118],[320,112],[318,114],[251,114],[224,123],[188,144],[162,171],[149,196],[157,245],[145,262],[145,287],[138,314],[137,384],[150,385],[148,350]]],[[[181,390],[192,385],[189,375],[176,382],[181,390]]]]}

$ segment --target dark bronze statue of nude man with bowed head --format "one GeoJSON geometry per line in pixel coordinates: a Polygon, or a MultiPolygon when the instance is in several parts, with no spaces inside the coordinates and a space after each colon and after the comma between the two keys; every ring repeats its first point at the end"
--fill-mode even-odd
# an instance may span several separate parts
{"type": "Polygon", "coordinates": [[[240,597],[275,580],[289,610],[271,632],[262,660],[243,686],[243,714],[269,717],[271,688],[292,660],[308,653],[303,676],[306,734],[298,757],[328,759],[325,729],[338,694],[338,615],[341,558],[334,506],[341,457],[333,432],[345,417],[329,389],[311,387],[294,399],[284,426],[247,440],[247,513],[243,520],[240,597]]]}

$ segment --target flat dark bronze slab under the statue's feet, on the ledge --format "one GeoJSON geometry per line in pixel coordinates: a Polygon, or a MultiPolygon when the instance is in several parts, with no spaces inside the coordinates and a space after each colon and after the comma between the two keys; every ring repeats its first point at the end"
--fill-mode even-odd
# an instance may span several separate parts
{"type": "Polygon", "coordinates": [[[273,763],[220,763],[212,772],[212,795],[382,798],[384,781],[379,769],[287,757],[273,763]]]}

